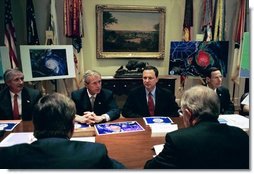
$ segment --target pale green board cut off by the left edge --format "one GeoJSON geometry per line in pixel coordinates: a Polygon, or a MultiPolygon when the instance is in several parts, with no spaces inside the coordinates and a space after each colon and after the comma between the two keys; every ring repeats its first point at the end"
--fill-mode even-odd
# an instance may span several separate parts
{"type": "Polygon", "coordinates": [[[5,46],[0,47],[0,84],[4,83],[4,72],[11,68],[9,49],[5,46]]]}

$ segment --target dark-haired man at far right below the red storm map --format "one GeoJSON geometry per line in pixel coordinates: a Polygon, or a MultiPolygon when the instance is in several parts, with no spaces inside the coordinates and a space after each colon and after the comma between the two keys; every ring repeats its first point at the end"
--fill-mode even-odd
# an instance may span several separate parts
{"type": "Polygon", "coordinates": [[[222,86],[222,74],[220,69],[211,67],[206,74],[207,86],[213,89],[220,99],[220,113],[234,114],[234,104],[230,100],[229,90],[222,86]]]}

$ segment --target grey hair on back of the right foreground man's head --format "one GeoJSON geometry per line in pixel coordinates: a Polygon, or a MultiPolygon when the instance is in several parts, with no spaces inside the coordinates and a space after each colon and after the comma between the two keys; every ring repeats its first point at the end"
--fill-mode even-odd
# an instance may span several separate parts
{"type": "Polygon", "coordinates": [[[217,94],[206,86],[194,86],[186,90],[181,98],[181,108],[188,108],[198,119],[217,119],[220,101],[217,94]]]}

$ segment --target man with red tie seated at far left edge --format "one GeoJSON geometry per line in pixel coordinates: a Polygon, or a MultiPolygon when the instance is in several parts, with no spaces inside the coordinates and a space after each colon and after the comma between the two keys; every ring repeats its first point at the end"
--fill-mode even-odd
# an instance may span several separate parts
{"type": "Polygon", "coordinates": [[[35,103],[41,98],[39,90],[24,87],[24,74],[18,69],[4,73],[6,87],[0,92],[0,119],[31,120],[35,103]],[[17,94],[18,113],[14,113],[14,96],[17,94]]]}

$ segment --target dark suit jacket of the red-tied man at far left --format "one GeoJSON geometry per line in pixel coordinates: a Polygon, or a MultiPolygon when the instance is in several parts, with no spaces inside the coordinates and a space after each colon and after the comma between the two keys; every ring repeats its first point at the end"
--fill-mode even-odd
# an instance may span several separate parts
{"type": "MultiPolygon", "coordinates": [[[[32,120],[33,106],[41,98],[39,90],[24,87],[22,90],[22,120],[32,120]]],[[[0,92],[0,119],[12,120],[12,103],[9,88],[0,92]]]]}

